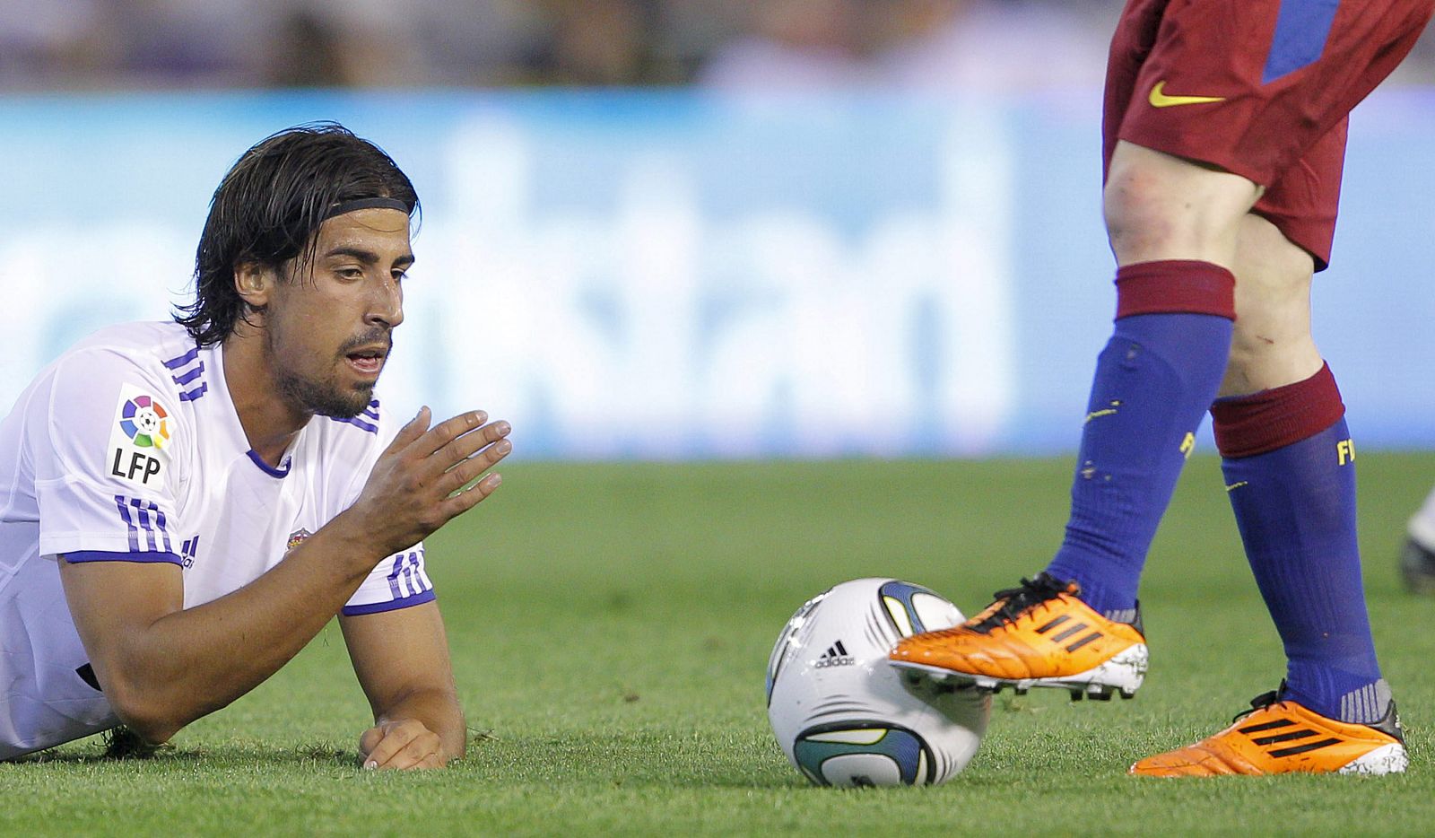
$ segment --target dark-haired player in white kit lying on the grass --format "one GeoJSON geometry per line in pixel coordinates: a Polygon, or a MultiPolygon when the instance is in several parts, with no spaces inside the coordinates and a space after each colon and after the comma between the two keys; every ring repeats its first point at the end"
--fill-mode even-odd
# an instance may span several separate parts
{"type": "Polygon", "coordinates": [[[478,478],[509,426],[403,423],[373,397],[418,207],[346,129],[280,132],[215,191],[184,316],[105,329],[20,395],[0,423],[0,759],[118,725],[165,742],[336,614],[375,715],[363,765],[462,756],[422,540],[498,488],[478,478]]]}

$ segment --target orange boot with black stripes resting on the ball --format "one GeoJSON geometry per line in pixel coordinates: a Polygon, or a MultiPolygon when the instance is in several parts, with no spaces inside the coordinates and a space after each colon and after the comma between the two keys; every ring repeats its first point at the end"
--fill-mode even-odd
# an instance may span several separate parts
{"type": "Polygon", "coordinates": [[[1049,574],[997,591],[961,626],[914,634],[893,649],[893,666],[1000,692],[1059,687],[1072,699],[1129,699],[1147,674],[1147,639],[1134,623],[1108,620],[1078,598],[1076,583],[1049,574]]]}

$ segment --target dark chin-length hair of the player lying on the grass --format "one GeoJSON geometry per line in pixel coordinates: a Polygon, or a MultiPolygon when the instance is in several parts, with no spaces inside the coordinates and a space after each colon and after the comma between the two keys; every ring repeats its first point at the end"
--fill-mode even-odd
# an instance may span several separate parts
{"type": "Polygon", "coordinates": [[[195,300],[175,321],[199,346],[220,343],[245,316],[234,268],[255,263],[278,271],[313,255],[319,225],[334,204],[393,198],[419,212],[408,175],[379,146],[334,122],[280,131],[260,141],[224,175],[194,260],[195,300]]]}

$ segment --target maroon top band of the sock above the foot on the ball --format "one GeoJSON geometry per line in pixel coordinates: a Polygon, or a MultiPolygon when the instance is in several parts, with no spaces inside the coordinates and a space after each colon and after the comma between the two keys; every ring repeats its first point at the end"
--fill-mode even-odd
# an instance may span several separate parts
{"type": "Polygon", "coordinates": [[[1215,314],[1236,320],[1236,277],[1218,264],[1164,260],[1116,268],[1116,320],[1132,314],[1215,314]]]}

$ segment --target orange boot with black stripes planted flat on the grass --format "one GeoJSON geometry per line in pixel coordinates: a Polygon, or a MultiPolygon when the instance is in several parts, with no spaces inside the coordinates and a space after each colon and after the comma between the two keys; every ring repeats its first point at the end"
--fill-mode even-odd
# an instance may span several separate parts
{"type": "Polygon", "coordinates": [[[1327,719],[1280,690],[1251,700],[1251,710],[1210,736],[1131,766],[1139,776],[1218,776],[1223,773],[1398,773],[1409,756],[1391,702],[1375,725],[1327,719]]]}

